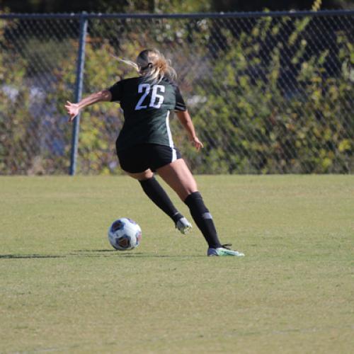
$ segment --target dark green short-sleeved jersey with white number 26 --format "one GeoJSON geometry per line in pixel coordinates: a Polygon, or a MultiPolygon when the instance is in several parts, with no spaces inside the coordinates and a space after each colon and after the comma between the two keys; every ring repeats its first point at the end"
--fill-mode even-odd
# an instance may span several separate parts
{"type": "Polygon", "coordinates": [[[162,79],[154,84],[144,77],[118,81],[110,87],[111,101],[120,102],[124,124],[117,139],[121,151],[137,144],[173,147],[169,126],[171,110],[186,110],[176,84],[162,79]]]}

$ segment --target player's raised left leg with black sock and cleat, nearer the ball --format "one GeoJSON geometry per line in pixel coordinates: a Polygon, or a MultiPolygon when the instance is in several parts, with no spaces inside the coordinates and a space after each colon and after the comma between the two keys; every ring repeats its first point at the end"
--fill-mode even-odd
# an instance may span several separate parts
{"type": "Polygon", "coordinates": [[[181,232],[181,234],[187,234],[192,225],[188,220],[183,217],[181,212],[178,212],[173,202],[167,195],[166,191],[160,183],[154,177],[154,173],[151,169],[147,169],[140,173],[129,173],[129,176],[135,178],[139,181],[144,193],[157,205],[166,215],[169,215],[173,220],[176,228],[181,232]]]}

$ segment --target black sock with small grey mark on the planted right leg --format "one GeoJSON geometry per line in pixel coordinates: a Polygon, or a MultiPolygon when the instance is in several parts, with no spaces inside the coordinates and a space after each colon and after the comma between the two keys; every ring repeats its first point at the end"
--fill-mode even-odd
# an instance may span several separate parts
{"type": "Polygon", "coordinates": [[[202,195],[200,195],[199,192],[191,193],[185,198],[184,202],[188,205],[190,214],[192,215],[195,224],[197,224],[202,232],[202,235],[205,237],[209,247],[212,247],[213,249],[221,247],[219,238],[217,237],[217,230],[212,221],[212,215],[209,210],[207,210],[207,207],[205,207],[202,195]]]}

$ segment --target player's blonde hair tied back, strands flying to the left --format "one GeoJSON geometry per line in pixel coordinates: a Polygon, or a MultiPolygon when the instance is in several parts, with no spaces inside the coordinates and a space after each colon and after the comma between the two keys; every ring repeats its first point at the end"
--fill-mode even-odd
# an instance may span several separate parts
{"type": "Polygon", "coordinates": [[[170,60],[156,49],[146,49],[139,53],[137,62],[132,62],[127,59],[120,59],[120,62],[134,67],[140,76],[144,76],[153,82],[159,82],[164,77],[176,79],[176,70],[171,67],[170,60]]]}

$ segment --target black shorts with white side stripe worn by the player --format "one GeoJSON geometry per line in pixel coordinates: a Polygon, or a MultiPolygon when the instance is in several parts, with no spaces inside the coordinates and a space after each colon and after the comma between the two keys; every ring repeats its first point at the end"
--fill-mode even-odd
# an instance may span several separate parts
{"type": "Polygon", "coordinates": [[[117,152],[120,167],[130,173],[139,173],[151,169],[156,171],[162,166],[181,159],[175,147],[159,144],[139,144],[117,152]]]}

